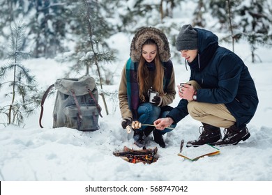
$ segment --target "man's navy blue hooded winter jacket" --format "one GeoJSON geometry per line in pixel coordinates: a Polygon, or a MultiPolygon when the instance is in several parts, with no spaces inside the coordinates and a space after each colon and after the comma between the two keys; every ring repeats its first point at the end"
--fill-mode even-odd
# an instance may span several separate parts
{"type": "MultiPolygon", "coordinates": [[[[197,102],[225,104],[236,118],[236,126],[243,127],[254,116],[259,102],[254,81],[243,61],[224,47],[211,31],[197,29],[198,56],[189,63],[190,80],[202,87],[197,90],[197,102]]],[[[167,117],[178,123],[188,115],[187,100],[180,100],[167,117]]]]}

